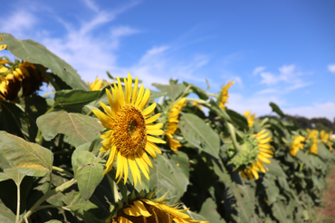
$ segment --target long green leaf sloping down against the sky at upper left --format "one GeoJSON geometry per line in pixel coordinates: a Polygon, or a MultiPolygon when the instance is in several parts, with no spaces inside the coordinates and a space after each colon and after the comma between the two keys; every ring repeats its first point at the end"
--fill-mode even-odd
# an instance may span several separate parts
{"type": "Polygon", "coordinates": [[[12,34],[2,34],[1,44],[7,44],[7,50],[21,60],[38,63],[49,68],[73,89],[88,90],[89,87],[81,80],[81,76],[56,54],[50,52],[45,46],[33,40],[19,40],[12,34]]]}

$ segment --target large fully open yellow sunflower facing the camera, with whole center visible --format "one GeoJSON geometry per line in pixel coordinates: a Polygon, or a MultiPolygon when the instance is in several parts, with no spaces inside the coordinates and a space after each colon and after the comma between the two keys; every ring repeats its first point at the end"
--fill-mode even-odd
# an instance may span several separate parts
{"type": "Polygon", "coordinates": [[[139,81],[137,77],[133,90],[130,73],[128,80],[124,78],[125,95],[120,78],[117,77],[117,79],[118,84],[114,82],[114,87],[110,86],[111,92],[106,89],[110,107],[101,102],[101,106],[106,113],[93,110],[102,125],[108,129],[101,135],[103,141],[101,142],[102,147],[100,150],[103,152],[110,150],[110,157],[107,160],[104,174],[112,169],[114,160],[117,159],[116,178],[119,178],[118,182],[124,176],[124,183],[126,184],[130,168],[136,186],[137,179],[141,183],[139,169],[149,179],[148,166],[152,168],[152,163],[148,158],[148,154],[154,159],[156,159],[156,152],[161,154],[155,142],[166,143],[150,136],[164,134],[164,131],[160,130],[163,124],[152,124],[152,122],[158,120],[160,115],[158,113],[151,116],[155,110],[156,102],[144,110],[150,97],[150,91],[147,89],[144,92],[142,84],[138,92],[139,81]]]}

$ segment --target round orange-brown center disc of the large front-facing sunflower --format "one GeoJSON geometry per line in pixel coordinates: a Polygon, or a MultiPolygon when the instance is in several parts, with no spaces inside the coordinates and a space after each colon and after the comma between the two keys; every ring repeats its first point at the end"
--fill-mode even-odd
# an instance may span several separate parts
{"type": "Polygon", "coordinates": [[[133,105],[127,104],[118,112],[112,130],[115,145],[122,156],[135,154],[146,145],[146,121],[142,112],[133,105]]]}

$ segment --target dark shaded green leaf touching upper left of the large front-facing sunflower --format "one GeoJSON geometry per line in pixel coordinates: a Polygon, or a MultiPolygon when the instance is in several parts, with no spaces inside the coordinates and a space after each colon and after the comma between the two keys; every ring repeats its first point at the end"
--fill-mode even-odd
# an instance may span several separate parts
{"type": "Polygon", "coordinates": [[[54,94],[55,109],[81,112],[83,106],[97,100],[100,91],[62,90],[54,94]]]}

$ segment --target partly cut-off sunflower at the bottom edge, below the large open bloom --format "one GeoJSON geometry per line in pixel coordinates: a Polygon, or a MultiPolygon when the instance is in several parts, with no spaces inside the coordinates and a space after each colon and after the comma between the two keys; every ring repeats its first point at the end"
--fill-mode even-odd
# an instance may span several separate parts
{"type": "MultiPolygon", "coordinates": [[[[141,191],[143,192],[143,190],[141,191]]],[[[134,192],[132,193],[134,194],[134,192]]],[[[163,195],[159,199],[150,199],[152,192],[148,193],[144,198],[130,199],[126,205],[119,201],[119,208],[111,219],[106,222],[112,223],[206,223],[207,221],[198,221],[190,218],[187,214],[182,213],[188,210],[178,209],[180,204],[166,205],[169,199],[165,199],[163,195]]],[[[135,197],[135,196],[134,196],[135,197]]],[[[143,197],[143,196],[142,196],[143,197]]],[[[208,223],[208,222],[207,222],[208,223]]]]}

